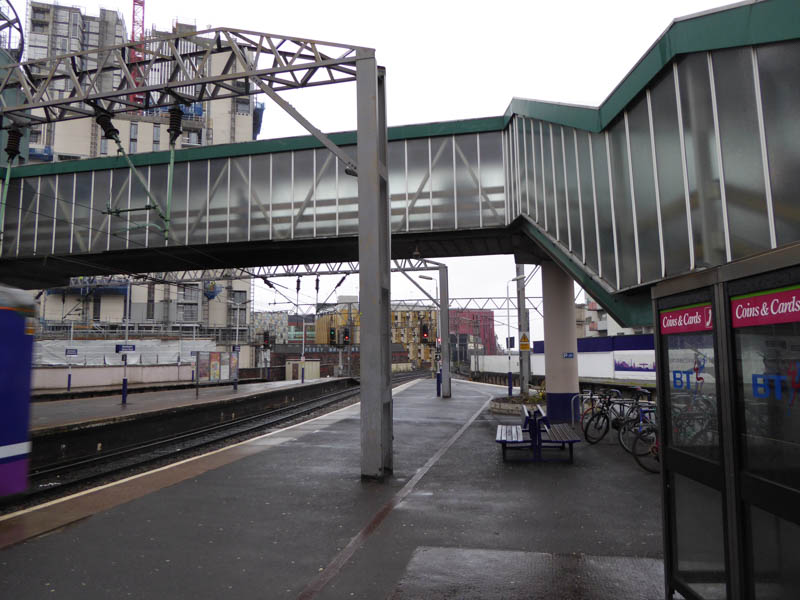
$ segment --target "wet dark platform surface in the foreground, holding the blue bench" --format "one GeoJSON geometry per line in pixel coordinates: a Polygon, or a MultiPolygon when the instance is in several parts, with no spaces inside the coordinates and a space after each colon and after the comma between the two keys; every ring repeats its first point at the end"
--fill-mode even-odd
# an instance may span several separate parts
{"type": "Polygon", "coordinates": [[[9,598],[664,597],[660,480],[615,442],[504,463],[501,387],[394,393],[394,475],[358,405],[0,520],[9,598]],[[23,537],[39,535],[14,543],[23,537]],[[12,545],[13,544],[13,545],[12,545]]]}

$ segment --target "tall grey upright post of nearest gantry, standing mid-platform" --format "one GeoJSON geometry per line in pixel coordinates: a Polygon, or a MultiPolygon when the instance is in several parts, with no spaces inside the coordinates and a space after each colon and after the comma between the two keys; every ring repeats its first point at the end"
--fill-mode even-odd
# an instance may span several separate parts
{"type": "Polygon", "coordinates": [[[380,479],[392,471],[386,102],[384,73],[378,70],[374,51],[359,49],[356,58],[361,476],[380,479]]]}

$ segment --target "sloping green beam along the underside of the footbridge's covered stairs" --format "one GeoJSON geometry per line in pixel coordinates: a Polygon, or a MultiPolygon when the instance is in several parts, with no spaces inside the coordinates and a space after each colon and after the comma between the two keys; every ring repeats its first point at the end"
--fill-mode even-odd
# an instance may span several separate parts
{"type": "Polygon", "coordinates": [[[653,306],[650,301],[649,287],[637,288],[631,292],[610,292],[595,276],[547,237],[527,217],[517,218],[512,227],[519,228],[528,239],[569,273],[617,323],[623,327],[653,326],[653,306]]]}

